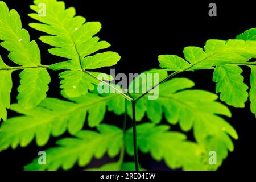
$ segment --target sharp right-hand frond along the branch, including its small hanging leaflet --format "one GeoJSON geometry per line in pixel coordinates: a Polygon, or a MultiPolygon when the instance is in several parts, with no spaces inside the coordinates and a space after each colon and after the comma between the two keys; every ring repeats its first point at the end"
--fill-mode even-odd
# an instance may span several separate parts
{"type": "Polygon", "coordinates": [[[255,40],[255,29],[246,31],[237,39],[210,39],[204,50],[200,47],[185,47],[185,60],[175,55],[160,55],[160,67],[176,72],[214,68],[213,81],[217,82],[216,93],[220,92],[221,101],[234,107],[245,107],[248,88],[243,83],[239,65],[256,65],[255,62],[249,62],[256,57],[256,42],[251,40],[255,40]]]}

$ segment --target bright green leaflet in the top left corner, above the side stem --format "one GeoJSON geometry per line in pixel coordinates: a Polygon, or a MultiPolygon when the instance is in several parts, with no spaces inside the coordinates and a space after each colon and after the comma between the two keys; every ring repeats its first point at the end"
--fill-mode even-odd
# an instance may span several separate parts
{"type": "Polygon", "coordinates": [[[40,65],[40,51],[35,41],[30,42],[27,30],[22,29],[19,14],[9,11],[5,2],[0,2],[0,44],[10,51],[10,60],[24,66],[40,65]]]}

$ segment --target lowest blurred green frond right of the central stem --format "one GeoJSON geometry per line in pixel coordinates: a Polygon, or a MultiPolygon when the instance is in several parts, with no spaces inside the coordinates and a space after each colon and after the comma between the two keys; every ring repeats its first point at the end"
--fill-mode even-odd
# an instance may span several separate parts
{"type": "MultiPolygon", "coordinates": [[[[156,161],[164,160],[172,169],[203,170],[201,154],[203,149],[196,143],[188,142],[184,134],[168,131],[169,126],[155,126],[144,123],[137,126],[138,147],[143,153],[150,152],[156,161]]],[[[125,136],[126,151],[133,155],[132,130],[129,129],[125,136]]]]}

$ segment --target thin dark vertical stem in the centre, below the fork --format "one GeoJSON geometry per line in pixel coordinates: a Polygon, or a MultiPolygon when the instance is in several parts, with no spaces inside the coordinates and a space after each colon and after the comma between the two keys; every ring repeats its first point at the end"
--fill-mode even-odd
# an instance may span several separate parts
{"type": "Polygon", "coordinates": [[[135,105],[136,102],[132,101],[132,110],[133,110],[133,148],[134,148],[134,163],[135,170],[139,171],[139,160],[138,160],[138,148],[137,148],[137,132],[136,132],[136,119],[135,119],[135,105]]]}

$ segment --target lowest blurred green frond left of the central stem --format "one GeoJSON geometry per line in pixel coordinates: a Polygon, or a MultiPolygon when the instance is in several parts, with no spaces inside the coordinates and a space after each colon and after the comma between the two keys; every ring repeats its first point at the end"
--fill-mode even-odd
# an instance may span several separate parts
{"type": "Polygon", "coordinates": [[[102,158],[107,153],[110,157],[117,156],[122,146],[122,130],[110,125],[100,125],[99,132],[83,130],[76,138],[64,138],[57,141],[58,147],[46,150],[47,163],[39,165],[38,158],[28,164],[26,170],[56,170],[62,167],[71,169],[76,162],[86,166],[92,160],[102,158]]]}

